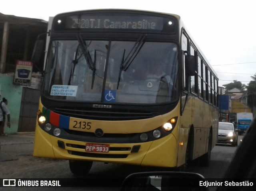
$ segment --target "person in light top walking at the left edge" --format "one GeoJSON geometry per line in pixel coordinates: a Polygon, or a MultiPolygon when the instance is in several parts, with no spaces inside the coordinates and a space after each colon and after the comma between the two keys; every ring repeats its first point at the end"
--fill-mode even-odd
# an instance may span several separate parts
{"type": "Polygon", "coordinates": [[[0,134],[1,136],[7,136],[7,134],[4,133],[4,124],[5,119],[7,116],[7,126],[10,128],[10,111],[7,107],[8,100],[6,98],[3,98],[3,100],[0,102],[0,134]]]}

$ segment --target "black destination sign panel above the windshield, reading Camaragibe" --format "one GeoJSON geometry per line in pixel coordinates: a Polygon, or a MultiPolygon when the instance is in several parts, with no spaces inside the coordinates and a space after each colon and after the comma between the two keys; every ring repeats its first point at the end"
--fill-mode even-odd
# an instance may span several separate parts
{"type": "Polygon", "coordinates": [[[178,20],[167,14],[149,12],[120,12],[111,10],[80,11],[57,15],[53,20],[52,31],[96,31],[96,32],[152,32],[176,33],[178,20]]]}

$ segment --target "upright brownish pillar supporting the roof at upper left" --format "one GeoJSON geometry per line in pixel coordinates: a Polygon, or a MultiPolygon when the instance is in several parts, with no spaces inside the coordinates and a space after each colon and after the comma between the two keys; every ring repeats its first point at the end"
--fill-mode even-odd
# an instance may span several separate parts
{"type": "Polygon", "coordinates": [[[9,34],[9,24],[8,22],[4,22],[2,52],[1,52],[1,60],[0,60],[0,73],[5,73],[5,69],[6,69],[8,34],[9,34]]]}

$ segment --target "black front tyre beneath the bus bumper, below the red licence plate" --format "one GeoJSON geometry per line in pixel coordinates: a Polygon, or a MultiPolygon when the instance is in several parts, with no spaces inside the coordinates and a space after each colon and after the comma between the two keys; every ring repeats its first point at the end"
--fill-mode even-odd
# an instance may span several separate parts
{"type": "Polygon", "coordinates": [[[69,167],[74,175],[86,175],[92,167],[92,161],[70,160],[69,167]]]}

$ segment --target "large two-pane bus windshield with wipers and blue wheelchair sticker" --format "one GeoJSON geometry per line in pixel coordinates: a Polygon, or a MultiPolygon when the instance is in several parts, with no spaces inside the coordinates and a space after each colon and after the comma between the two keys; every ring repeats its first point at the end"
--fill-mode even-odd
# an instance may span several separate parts
{"type": "Polygon", "coordinates": [[[176,100],[177,45],[171,42],[54,40],[43,95],[56,100],[164,103],[176,100]]]}

